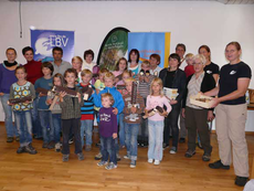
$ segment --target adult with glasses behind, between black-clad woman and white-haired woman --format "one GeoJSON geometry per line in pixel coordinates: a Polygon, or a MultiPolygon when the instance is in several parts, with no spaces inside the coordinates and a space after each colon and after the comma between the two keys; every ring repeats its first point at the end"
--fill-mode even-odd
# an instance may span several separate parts
{"type": "MultiPolygon", "coordinates": [[[[184,44],[179,43],[176,46],[176,53],[180,56],[180,68],[184,68],[186,67],[186,60],[184,60],[184,54],[186,54],[187,47],[184,44]]],[[[186,136],[187,136],[187,129],[186,129],[186,121],[184,118],[182,118],[182,115],[180,115],[180,131],[179,131],[179,142],[186,142],[186,136]]]]}

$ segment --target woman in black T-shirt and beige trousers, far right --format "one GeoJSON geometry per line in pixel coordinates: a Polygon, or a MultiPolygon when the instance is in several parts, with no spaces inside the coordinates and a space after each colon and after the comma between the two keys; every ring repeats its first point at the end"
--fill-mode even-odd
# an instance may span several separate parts
{"type": "Polygon", "coordinates": [[[252,71],[240,60],[241,45],[231,42],[225,47],[229,64],[221,68],[218,87],[207,92],[215,96],[212,107],[216,107],[216,135],[220,160],[210,163],[212,169],[230,169],[231,144],[233,146],[233,166],[236,174],[235,184],[245,185],[248,180],[248,152],[245,139],[246,99],[252,71]]]}

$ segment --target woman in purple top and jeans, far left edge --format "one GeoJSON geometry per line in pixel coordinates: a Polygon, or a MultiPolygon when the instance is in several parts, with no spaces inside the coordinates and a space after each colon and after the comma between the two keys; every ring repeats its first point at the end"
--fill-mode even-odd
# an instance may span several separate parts
{"type": "Polygon", "coordinates": [[[17,127],[12,123],[12,110],[11,106],[8,105],[10,98],[10,87],[18,79],[15,77],[15,68],[19,64],[15,62],[17,52],[13,47],[9,47],[6,51],[7,61],[0,64],[0,98],[2,108],[4,112],[4,125],[7,129],[7,142],[19,141],[19,132],[17,127]]]}

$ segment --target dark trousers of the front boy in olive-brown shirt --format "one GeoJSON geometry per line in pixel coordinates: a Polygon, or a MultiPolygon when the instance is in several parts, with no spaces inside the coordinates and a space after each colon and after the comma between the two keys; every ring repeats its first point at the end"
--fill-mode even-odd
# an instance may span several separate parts
{"type": "Polygon", "coordinates": [[[70,146],[68,146],[68,135],[72,129],[72,134],[74,134],[75,141],[75,153],[82,152],[82,144],[81,144],[81,119],[62,119],[62,129],[63,129],[63,155],[70,155],[70,146]]]}

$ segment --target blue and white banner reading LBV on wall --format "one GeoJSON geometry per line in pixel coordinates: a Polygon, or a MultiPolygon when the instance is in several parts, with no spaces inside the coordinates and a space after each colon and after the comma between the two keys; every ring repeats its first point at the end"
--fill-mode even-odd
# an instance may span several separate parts
{"type": "MultiPolygon", "coordinates": [[[[52,49],[63,49],[63,60],[71,62],[74,55],[74,31],[31,30],[34,60],[52,57],[52,49]]],[[[50,59],[49,59],[50,60],[50,59]]]]}

